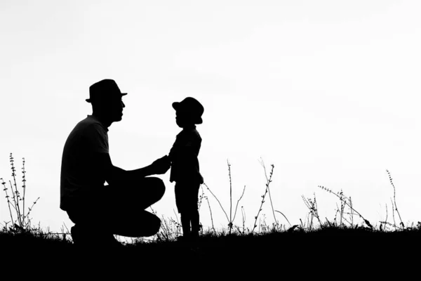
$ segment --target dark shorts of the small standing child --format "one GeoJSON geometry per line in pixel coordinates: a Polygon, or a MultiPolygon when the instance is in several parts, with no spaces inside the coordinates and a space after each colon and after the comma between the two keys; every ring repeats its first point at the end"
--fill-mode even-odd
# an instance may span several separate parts
{"type": "Polygon", "coordinates": [[[179,213],[197,211],[200,183],[175,183],[175,204],[179,213]]]}

